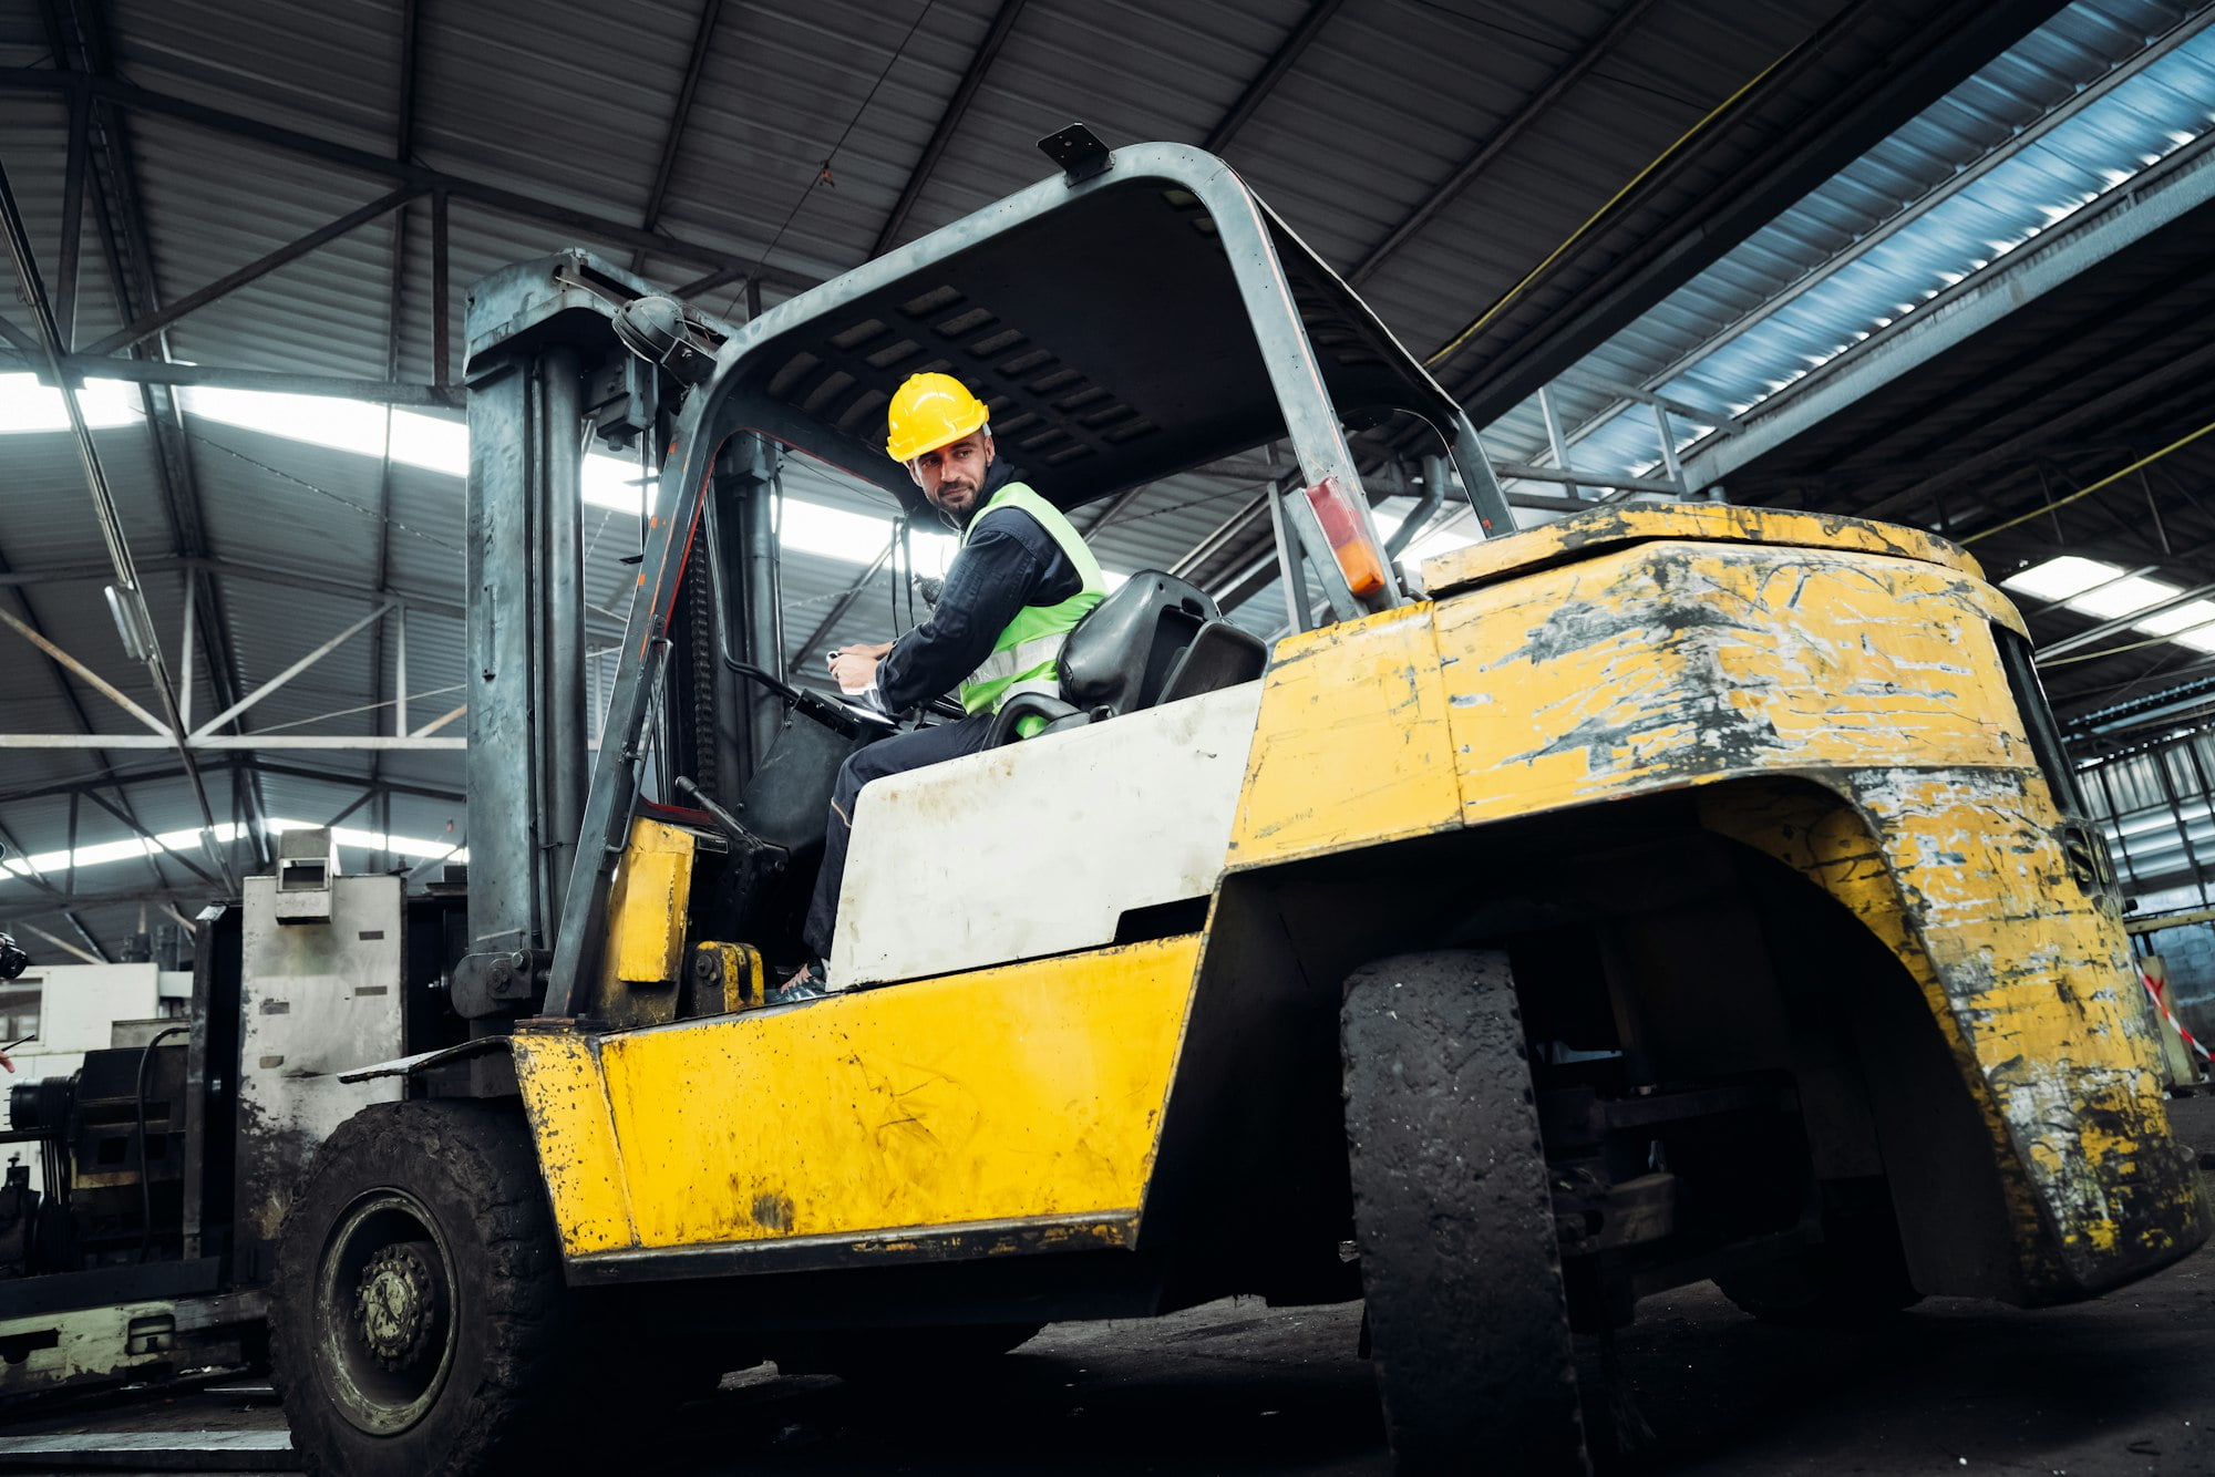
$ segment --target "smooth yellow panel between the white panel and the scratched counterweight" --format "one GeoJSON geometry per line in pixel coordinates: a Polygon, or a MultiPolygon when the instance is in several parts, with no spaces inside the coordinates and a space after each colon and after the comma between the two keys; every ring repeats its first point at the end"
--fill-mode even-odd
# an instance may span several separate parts
{"type": "Polygon", "coordinates": [[[1457,813],[1429,605],[1276,644],[1229,866],[1444,830],[1457,813]]]}

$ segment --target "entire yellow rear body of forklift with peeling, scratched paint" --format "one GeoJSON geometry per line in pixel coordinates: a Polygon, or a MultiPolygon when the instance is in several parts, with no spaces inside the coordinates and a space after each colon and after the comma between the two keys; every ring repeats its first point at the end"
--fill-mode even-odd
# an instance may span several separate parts
{"type": "Polygon", "coordinates": [[[1431,587],[1466,593],[1278,644],[1234,864],[1438,830],[1442,766],[1464,824],[1701,788],[1710,828],[1816,879],[1923,985],[2033,1289],[2113,1287],[2206,1236],[2120,919],[2069,870],[2000,664],[2020,618],[1971,558],[1854,520],[1615,509],[1440,562],[1431,587]],[[1838,799],[1748,786],[1785,777],[1838,799]],[[1748,815],[1750,793],[1814,810],[1748,815]]]}

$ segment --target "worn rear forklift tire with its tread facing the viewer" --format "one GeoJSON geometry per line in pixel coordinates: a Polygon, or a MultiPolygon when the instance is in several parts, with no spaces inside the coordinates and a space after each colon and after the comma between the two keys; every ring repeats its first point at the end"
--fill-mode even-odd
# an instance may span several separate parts
{"type": "Polygon", "coordinates": [[[1586,1473],[1506,954],[1364,965],[1340,1012],[1353,1236],[1393,1470],[1586,1473]]]}

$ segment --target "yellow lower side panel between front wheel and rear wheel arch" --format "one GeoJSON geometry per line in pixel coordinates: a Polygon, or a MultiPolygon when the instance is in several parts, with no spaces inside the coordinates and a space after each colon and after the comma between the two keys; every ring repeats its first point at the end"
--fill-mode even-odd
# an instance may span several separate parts
{"type": "Polygon", "coordinates": [[[569,1256],[1132,1213],[1198,934],[598,1036],[518,1034],[569,1256]]]}

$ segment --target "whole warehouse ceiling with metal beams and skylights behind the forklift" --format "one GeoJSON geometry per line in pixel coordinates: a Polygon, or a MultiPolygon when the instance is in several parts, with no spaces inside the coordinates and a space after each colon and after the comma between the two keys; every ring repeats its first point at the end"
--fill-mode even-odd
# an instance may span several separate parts
{"type": "MultiPolygon", "coordinates": [[[[1045,175],[1034,140],[1070,120],[1223,153],[1433,357],[1519,472],[1526,518],[1637,494],[1677,458],[1681,485],[1732,500],[1989,531],[1996,574],[2075,551],[2180,591],[2215,582],[2215,518],[2195,505],[2211,458],[2193,447],[2115,483],[2126,496],[1987,527],[2191,430],[2199,376],[2175,365],[2206,343],[2206,213],[2188,204],[2215,122],[2188,66],[2202,35],[2193,7],[2126,0],[9,7],[0,162],[206,733],[182,755],[102,691],[162,711],[109,611],[111,549],[58,407],[0,379],[0,427],[33,427],[0,430],[0,729],[55,740],[0,751],[0,841],[42,859],[0,879],[0,921],[38,928],[40,950],[113,954],[142,908],[190,910],[224,868],[250,870],[281,822],[363,833],[350,866],[434,866],[465,844],[461,755],[432,740],[465,729],[452,405],[472,281],[585,246],[744,317],[1045,175]],[[2160,86],[2184,122],[2151,148],[2129,137],[2098,113],[2146,113],[2124,86],[2160,86]],[[1912,372],[1865,370],[2011,268],[1989,248],[1945,261],[2009,206],[2053,208],[2009,173],[2038,151],[2095,177],[2091,202],[2053,186],[2073,190],[2040,217],[2056,244],[2129,215],[2140,175],[2184,186],[2157,228],[2109,230],[2060,286],[2011,286],[2016,310],[1912,372]],[[1920,319],[1869,319],[1861,299],[1931,270],[1956,281],[1907,292],[1920,319]],[[1779,352],[1799,368],[1779,372],[1779,352]],[[241,837],[213,855],[190,839],[202,797],[241,837]]],[[[0,376],[38,350],[11,288],[0,376]]],[[[1413,494],[1389,432],[1367,443],[1378,489],[1413,494]]],[[[1256,494],[1274,472],[1249,458],[1136,489],[1088,531],[1112,569],[1229,587],[1267,547],[1256,494]]],[[[609,644],[638,527],[620,469],[600,476],[587,593],[609,644]]],[[[797,465],[786,494],[813,529],[786,560],[786,633],[813,660],[893,620],[893,582],[864,582],[893,509],[797,465]]],[[[1387,525],[1409,507],[1387,500],[1387,525]]],[[[2040,640],[2100,624],[2025,607],[2040,640]]],[[[1263,591],[1249,618],[1280,611],[1263,591]]],[[[2067,709],[2204,662],[2106,644],[2131,642],[2049,673],[2067,709]]]]}

